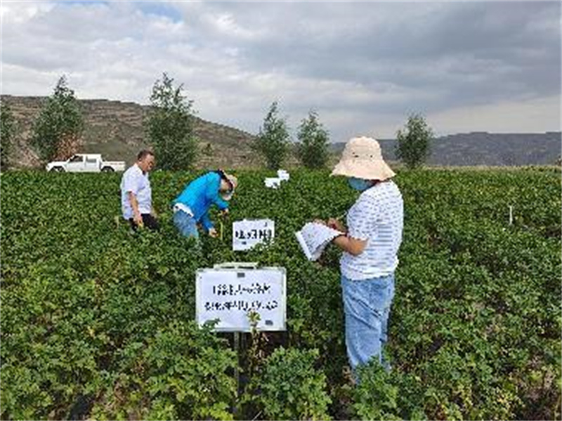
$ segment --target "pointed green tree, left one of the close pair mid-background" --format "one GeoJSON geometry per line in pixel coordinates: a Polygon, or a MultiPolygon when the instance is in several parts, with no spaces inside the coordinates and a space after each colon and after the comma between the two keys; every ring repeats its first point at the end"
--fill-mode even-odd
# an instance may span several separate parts
{"type": "Polygon", "coordinates": [[[277,117],[277,114],[277,101],[274,101],[252,145],[266,159],[270,169],[279,169],[289,150],[287,123],[285,119],[277,117]]]}

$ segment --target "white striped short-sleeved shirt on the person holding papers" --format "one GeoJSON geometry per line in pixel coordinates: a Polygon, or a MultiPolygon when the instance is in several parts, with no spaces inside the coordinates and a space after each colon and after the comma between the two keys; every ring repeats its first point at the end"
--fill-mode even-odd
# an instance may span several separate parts
{"type": "Polygon", "coordinates": [[[341,274],[348,279],[365,280],[387,276],[398,266],[402,242],[404,206],[393,181],[377,183],[361,193],[347,216],[348,235],[367,240],[358,256],[344,252],[341,274]]]}

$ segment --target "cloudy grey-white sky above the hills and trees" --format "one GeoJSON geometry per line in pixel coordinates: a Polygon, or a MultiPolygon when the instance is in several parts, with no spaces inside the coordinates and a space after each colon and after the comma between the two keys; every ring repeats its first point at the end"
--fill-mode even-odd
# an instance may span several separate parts
{"type": "Polygon", "coordinates": [[[560,1],[1,2],[1,92],[148,104],[166,72],[197,114],[257,133],[279,101],[332,141],[561,130],[560,1]]]}

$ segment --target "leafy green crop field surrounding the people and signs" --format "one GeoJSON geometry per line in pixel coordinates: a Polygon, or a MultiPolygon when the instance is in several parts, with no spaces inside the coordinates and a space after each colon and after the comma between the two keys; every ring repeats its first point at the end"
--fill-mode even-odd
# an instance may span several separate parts
{"type": "Polygon", "coordinates": [[[393,370],[369,365],[357,387],[339,251],[310,262],[294,238],[355,201],[328,174],[270,190],[237,171],[224,237],[200,248],[170,209],[198,174],[153,173],[162,231],[136,236],[119,174],[1,174],[1,418],[561,419],[560,171],[399,171],[393,370]],[[231,222],[262,217],[275,242],[233,252],[231,222]],[[197,327],[195,271],[225,261],[287,269],[287,332],[244,334],[237,354],[197,327]]]}

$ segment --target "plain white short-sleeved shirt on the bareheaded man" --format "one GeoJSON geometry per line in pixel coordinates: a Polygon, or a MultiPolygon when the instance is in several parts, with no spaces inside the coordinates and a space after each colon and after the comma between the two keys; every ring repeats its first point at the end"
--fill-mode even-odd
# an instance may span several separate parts
{"type": "Polygon", "coordinates": [[[148,173],[143,174],[137,164],[129,167],[121,180],[121,209],[124,219],[133,217],[133,207],[129,200],[129,192],[136,196],[138,201],[138,210],[141,214],[150,214],[152,209],[152,188],[150,188],[150,180],[148,173]]]}

